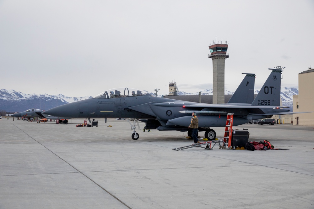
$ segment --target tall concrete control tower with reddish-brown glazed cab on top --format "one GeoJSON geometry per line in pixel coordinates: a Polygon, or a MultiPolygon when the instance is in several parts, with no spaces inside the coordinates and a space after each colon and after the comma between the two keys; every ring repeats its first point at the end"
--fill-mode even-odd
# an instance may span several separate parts
{"type": "Polygon", "coordinates": [[[225,60],[228,44],[214,44],[209,46],[210,55],[213,60],[213,104],[225,103],[225,60]]]}

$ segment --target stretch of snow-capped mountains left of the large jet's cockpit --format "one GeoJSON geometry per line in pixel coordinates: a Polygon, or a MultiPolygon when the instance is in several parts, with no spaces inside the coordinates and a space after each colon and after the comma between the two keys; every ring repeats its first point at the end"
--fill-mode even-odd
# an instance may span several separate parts
{"type": "Polygon", "coordinates": [[[62,94],[25,94],[15,90],[0,90],[0,110],[6,112],[22,112],[30,108],[48,110],[52,107],[60,106],[70,102],[76,102],[86,97],[66,97],[62,94]]]}

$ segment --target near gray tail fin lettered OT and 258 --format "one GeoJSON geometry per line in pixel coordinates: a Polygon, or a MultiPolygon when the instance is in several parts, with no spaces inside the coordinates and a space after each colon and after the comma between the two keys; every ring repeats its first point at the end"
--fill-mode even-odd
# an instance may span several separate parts
{"type": "Polygon", "coordinates": [[[253,106],[280,106],[282,69],[268,68],[268,70],[272,72],[252,102],[253,106]]]}

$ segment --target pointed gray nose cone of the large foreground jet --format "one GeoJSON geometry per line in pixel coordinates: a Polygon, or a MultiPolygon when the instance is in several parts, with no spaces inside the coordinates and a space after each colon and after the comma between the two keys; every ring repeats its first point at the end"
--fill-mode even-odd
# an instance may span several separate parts
{"type": "Polygon", "coordinates": [[[46,110],[45,114],[64,118],[77,118],[78,109],[79,109],[78,102],[73,102],[58,107],[53,107],[49,110],[46,110]]]}

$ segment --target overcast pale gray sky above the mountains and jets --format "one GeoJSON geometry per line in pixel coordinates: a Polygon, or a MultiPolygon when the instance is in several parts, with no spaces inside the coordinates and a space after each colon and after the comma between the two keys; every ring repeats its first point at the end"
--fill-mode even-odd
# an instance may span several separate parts
{"type": "Polygon", "coordinates": [[[314,67],[314,1],[0,0],[0,89],[69,97],[115,87],[212,88],[208,46],[227,41],[225,89],[285,66],[282,87],[314,67]],[[217,37],[217,38],[216,38],[217,37]]]}

